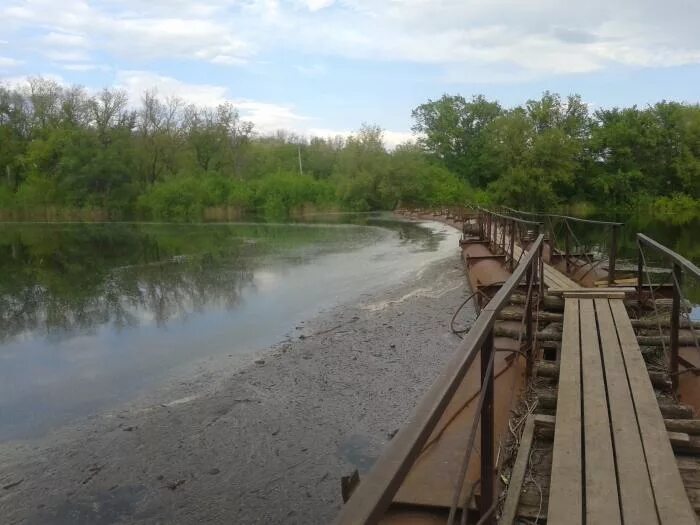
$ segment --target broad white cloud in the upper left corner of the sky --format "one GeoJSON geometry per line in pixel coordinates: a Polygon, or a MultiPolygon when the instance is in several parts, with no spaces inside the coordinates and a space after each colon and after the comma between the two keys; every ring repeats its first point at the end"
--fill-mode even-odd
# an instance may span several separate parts
{"type": "Polygon", "coordinates": [[[252,52],[251,46],[236,36],[235,21],[219,18],[221,3],[204,1],[198,8],[187,8],[179,1],[144,4],[29,0],[0,7],[0,19],[14,28],[48,29],[40,41],[49,45],[89,45],[95,50],[140,60],[185,58],[239,64],[252,52]]]}

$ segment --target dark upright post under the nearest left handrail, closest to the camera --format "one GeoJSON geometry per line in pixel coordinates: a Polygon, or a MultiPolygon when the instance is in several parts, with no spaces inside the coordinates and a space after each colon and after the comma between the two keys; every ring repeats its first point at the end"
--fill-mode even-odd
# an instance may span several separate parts
{"type": "MultiPolygon", "coordinates": [[[[482,517],[486,515],[493,505],[494,498],[494,417],[493,417],[493,383],[494,367],[489,371],[489,361],[494,352],[493,328],[486,337],[481,347],[481,388],[486,389],[484,394],[484,404],[481,408],[481,498],[479,500],[479,513],[482,517]]],[[[486,518],[481,523],[493,525],[494,514],[486,518]]]]}

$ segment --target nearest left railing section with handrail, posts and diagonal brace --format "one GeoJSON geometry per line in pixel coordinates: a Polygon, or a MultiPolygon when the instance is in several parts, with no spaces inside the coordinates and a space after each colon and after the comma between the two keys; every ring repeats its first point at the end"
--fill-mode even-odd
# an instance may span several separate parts
{"type": "MultiPolygon", "coordinates": [[[[497,214],[484,213],[482,218],[497,214]]],[[[513,219],[508,217],[508,219],[513,219]]],[[[485,223],[484,223],[485,225],[485,223]]],[[[491,224],[490,226],[493,226],[491,224]]],[[[499,312],[506,306],[510,296],[518,288],[523,278],[526,279],[527,295],[525,301],[525,345],[528,362],[533,359],[533,315],[532,308],[533,284],[539,278],[543,281],[542,265],[542,234],[530,244],[510,278],[496,292],[493,298],[481,310],[469,332],[462,340],[454,357],[445,367],[430,390],[423,396],[413,417],[392,439],[384,453],[375,463],[369,474],[362,479],[349,501],[344,505],[336,518],[338,525],[370,524],[378,522],[386,512],[400,488],[403,480],[410,471],[415,460],[420,455],[424,445],[437,425],[440,417],[447,408],[450,400],[457,391],[464,376],[469,371],[477,356],[481,362],[481,389],[477,410],[474,414],[470,437],[467,443],[461,478],[457,480],[454,501],[459,503],[462,485],[471,458],[477,425],[481,422],[481,497],[479,511],[481,523],[493,523],[497,498],[495,497],[495,462],[494,462],[494,339],[493,328],[499,312]],[[538,275],[538,272],[539,275],[538,275]]],[[[463,512],[466,512],[464,503],[463,512]]],[[[455,503],[452,505],[450,520],[454,519],[455,503]]]]}

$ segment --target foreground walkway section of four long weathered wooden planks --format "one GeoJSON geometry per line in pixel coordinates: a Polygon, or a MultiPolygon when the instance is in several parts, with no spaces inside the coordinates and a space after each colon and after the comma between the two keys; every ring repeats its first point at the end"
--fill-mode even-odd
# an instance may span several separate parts
{"type": "Polygon", "coordinates": [[[696,523],[622,299],[563,295],[547,523],[696,523]]]}

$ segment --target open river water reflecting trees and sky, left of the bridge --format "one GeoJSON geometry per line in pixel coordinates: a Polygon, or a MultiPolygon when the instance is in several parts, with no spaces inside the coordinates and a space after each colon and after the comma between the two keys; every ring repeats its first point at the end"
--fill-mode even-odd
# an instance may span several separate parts
{"type": "Polygon", "coordinates": [[[304,224],[0,225],[0,440],[250,356],[324,309],[457,253],[390,215],[304,224]],[[330,222],[330,223],[329,223],[330,222]]]}

